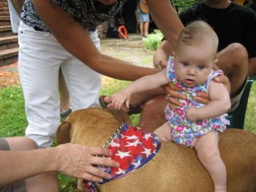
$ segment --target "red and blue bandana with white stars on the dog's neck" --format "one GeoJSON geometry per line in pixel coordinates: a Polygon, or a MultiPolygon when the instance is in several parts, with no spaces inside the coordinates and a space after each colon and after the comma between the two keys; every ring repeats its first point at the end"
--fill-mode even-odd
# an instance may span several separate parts
{"type": "MultiPolygon", "coordinates": [[[[110,180],[117,180],[150,161],[159,151],[161,143],[156,134],[122,124],[104,147],[112,151],[112,155],[107,158],[117,161],[120,166],[118,168],[99,166],[99,169],[111,174],[112,179],[110,180]]],[[[89,191],[97,191],[95,185],[102,185],[110,180],[103,180],[102,183],[89,182],[86,184],[86,188],[89,191]]]]}

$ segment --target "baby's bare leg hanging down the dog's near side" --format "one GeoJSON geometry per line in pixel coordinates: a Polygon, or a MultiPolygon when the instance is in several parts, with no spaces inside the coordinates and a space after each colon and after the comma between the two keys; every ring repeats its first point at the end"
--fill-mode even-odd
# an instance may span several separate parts
{"type": "Polygon", "coordinates": [[[218,134],[209,132],[195,141],[197,156],[214,182],[214,192],[227,191],[227,172],[219,155],[218,134]]]}

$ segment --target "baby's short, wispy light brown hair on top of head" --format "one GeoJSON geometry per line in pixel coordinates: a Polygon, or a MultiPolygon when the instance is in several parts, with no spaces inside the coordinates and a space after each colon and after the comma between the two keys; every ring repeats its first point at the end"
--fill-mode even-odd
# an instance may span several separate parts
{"type": "Polygon", "coordinates": [[[214,50],[218,49],[219,39],[213,28],[203,20],[197,20],[189,23],[179,34],[177,46],[181,43],[185,45],[198,45],[198,43],[208,43],[209,40],[214,50]],[[206,41],[207,39],[207,41],[206,41]]]}

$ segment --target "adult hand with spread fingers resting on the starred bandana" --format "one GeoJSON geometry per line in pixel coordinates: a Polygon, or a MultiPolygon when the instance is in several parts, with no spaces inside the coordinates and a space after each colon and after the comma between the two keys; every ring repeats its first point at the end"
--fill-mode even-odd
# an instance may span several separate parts
{"type": "Polygon", "coordinates": [[[102,178],[110,179],[111,175],[98,169],[95,165],[118,167],[116,161],[105,157],[111,154],[110,150],[101,147],[86,147],[67,143],[56,147],[59,168],[57,171],[72,177],[83,178],[93,182],[102,182],[102,178]]]}

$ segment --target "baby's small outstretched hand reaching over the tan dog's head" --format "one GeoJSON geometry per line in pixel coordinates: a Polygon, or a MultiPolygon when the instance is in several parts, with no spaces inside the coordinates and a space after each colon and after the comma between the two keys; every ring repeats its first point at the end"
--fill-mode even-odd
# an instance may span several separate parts
{"type": "Polygon", "coordinates": [[[129,108],[129,99],[131,97],[131,93],[127,91],[127,89],[118,91],[116,94],[112,96],[112,105],[115,110],[121,110],[121,106],[125,103],[127,108],[129,108]]]}

